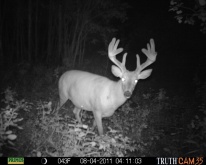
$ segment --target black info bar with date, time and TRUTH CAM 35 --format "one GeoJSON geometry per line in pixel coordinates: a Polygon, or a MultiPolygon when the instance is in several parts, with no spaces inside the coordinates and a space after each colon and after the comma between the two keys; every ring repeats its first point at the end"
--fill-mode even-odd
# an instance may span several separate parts
{"type": "Polygon", "coordinates": [[[2,157],[0,165],[206,165],[206,157],[2,157]]]}

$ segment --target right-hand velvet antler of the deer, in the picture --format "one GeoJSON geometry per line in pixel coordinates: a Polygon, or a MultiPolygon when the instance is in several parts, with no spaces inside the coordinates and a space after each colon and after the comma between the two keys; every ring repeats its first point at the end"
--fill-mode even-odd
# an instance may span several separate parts
{"type": "Polygon", "coordinates": [[[155,52],[155,43],[153,39],[150,39],[150,44],[147,44],[147,49],[142,49],[142,52],[147,56],[147,60],[139,67],[139,72],[155,62],[157,52],[155,52]]]}

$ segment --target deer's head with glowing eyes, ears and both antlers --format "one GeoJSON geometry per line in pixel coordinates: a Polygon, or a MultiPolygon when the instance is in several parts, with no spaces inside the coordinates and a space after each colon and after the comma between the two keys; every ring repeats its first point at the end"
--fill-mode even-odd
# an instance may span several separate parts
{"type": "Polygon", "coordinates": [[[116,59],[116,55],[123,51],[123,48],[117,48],[119,44],[119,40],[115,38],[112,39],[108,48],[109,59],[116,64],[112,65],[112,73],[120,78],[122,82],[122,90],[125,98],[130,98],[132,92],[138,82],[139,79],[146,79],[150,76],[152,69],[144,70],[147,66],[155,62],[157,53],[155,52],[155,44],[154,40],[150,40],[150,45],[147,44],[147,49],[142,49],[142,52],[147,56],[147,61],[140,65],[139,55],[136,55],[137,58],[137,67],[135,71],[128,71],[125,67],[127,53],[123,55],[122,62],[116,59]]]}

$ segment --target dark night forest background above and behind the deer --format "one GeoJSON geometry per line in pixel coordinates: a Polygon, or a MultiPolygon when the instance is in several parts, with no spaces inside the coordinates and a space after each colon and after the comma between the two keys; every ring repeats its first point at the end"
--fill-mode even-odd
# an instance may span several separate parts
{"type": "Polygon", "coordinates": [[[100,65],[110,72],[107,47],[113,37],[120,38],[129,53],[127,67],[134,70],[135,54],[141,56],[154,38],[157,76],[189,82],[204,66],[205,35],[198,23],[178,24],[169,9],[170,1],[1,0],[1,73],[20,65],[100,65]]]}

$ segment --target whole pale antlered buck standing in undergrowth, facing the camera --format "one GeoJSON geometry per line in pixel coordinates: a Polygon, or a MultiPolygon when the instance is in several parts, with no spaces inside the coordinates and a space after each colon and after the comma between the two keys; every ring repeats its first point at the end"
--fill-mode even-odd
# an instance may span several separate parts
{"type": "Polygon", "coordinates": [[[59,79],[60,107],[69,99],[75,105],[73,110],[76,119],[81,123],[79,113],[81,109],[92,111],[97,124],[99,134],[103,134],[102,118],[113,115],[114,111],[121,106],[130,96],[139,79],[150,76],[152,69],[142,71],[156,60],[154,40],[150,39],[147,49],[142,52],[147,56],[146,62],[140,65],[139,55],[135,71],[128,71],[125,67],[127,53],[122,62],[116,59],[116,55],[123,51],[117,48],[119,40],[115,38],[109,44],[109,59],[116,64],[112,66],[112,73],[119,77],[119,81],[112,81],[106,77],[89,72],[71,70],[65,72],[59,79]]]}

